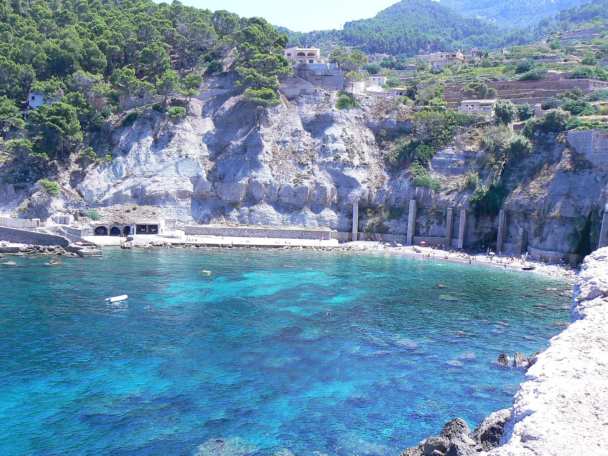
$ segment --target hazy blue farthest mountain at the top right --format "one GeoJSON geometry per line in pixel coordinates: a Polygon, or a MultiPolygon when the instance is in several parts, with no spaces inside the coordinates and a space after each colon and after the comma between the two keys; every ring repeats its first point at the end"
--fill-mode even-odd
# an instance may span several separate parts
{"type": "Polygon", "coordinates": [[[470,18],[486,19],[502,29],[535,26],[541,19],[576,7],[584,0],[440,0],[470,18]]]}

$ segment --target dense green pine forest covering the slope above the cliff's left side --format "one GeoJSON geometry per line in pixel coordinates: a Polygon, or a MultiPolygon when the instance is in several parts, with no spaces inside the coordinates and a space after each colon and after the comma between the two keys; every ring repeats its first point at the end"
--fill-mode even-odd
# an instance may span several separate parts
{"type": "MultiPolygon", "coordinates": [[[[112,109],[120,111],[129,98],[147,103],[160,96],[167,103],[178,93],[198,93],[202,72],[221,72],[228,56],[254,102],[275,102],[277,76],[291,71],[283,57],[287,35],[264,19],[179,1],[5,1],[0,33],[0,128],[16,129],[21,137],[5,146],[30,150],[35,159],[71,152],[85,130],[102,128],[112,109]],[[25,126],[18,108],[29,92],[53,102],[30,111],[25,126]],[[94,100],[109,106],[96,112],[94,100]]],[[[167,114],[179,119],[185,109],[176,106],[167,114]]],[[[84,159],[94,156],[83,153],[84,159]]]]}

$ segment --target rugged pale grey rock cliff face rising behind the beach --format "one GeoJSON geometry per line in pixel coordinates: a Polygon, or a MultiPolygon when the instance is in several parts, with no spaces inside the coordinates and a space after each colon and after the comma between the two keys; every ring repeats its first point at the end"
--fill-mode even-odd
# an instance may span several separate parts
{"type": "MultiPolygon", "coordinates": [[[[232,89],[229,77],[214,78],[172,122],[148,109],[132,123],[125,114],[91,137],[104,165],[77,160],[54,170],[60,198],[33,182],[5,179],[2,201],[13,214],[47,218],[57,210],[85,206],[114,219],[125,205],[185,223],[231,221],[270,226],[330,227],[350,231],[352,204],[359,203],[359,231],[407,233],[410,199],[418,201],[415,235],[445,237],[446,210],[468,209],[466,244],[496,243],[496,212],[481,213],[469,198],[488,184],[491,163],[483,128],[460,128],[437,151],[431,174],[441,191],[416,187],[407,168],[385,158],[396,140],[415,131],[409,108],[379,97],[362,97],[361,109],[336,109],[336,92],[283,97],[261,109],[232,89]],[[470,174],[470,173],[469,173],[470,174]],[[21,207],[21,211],[18,208],[21,207]]],[[[311,91],[308,91],[311,92],[311,91]]],[[[586,254],[597,246],[608,184],[608,141],[593,132],[539,135],[529,156],[505,173],[508,197],[505,242],[520,228],[528,244],[544,250],[586,254]],[[599,138],[599,139],[598,139],[599,138]]],[[[30,171],[31,172],[31,171],[30,171]]],[[[454,235],[454,237],[457,237],[454,235]]]]}

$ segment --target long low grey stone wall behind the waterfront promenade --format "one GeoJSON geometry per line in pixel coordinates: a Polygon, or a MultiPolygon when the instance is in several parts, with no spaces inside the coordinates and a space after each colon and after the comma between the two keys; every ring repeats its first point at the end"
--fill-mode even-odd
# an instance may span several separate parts
{"type": "Polygon", "coordinates": [[[286,239],[330,239],[337,238],[336,232],[330,230],[303,230],[289,228],[255,228],[232,226],[198,226],[186,225],[187,236],[233,236],[243,238],[286,238],[286,239]]]}

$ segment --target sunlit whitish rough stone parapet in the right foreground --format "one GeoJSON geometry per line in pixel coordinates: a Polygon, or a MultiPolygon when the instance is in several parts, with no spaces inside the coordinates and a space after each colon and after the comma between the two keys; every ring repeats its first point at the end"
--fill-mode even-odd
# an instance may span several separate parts
{"type": "Polygon", "coordinates": [[[585,258],[572,324],[549,341],[488,456],[608,455],[608,247],[585,258]]]}

